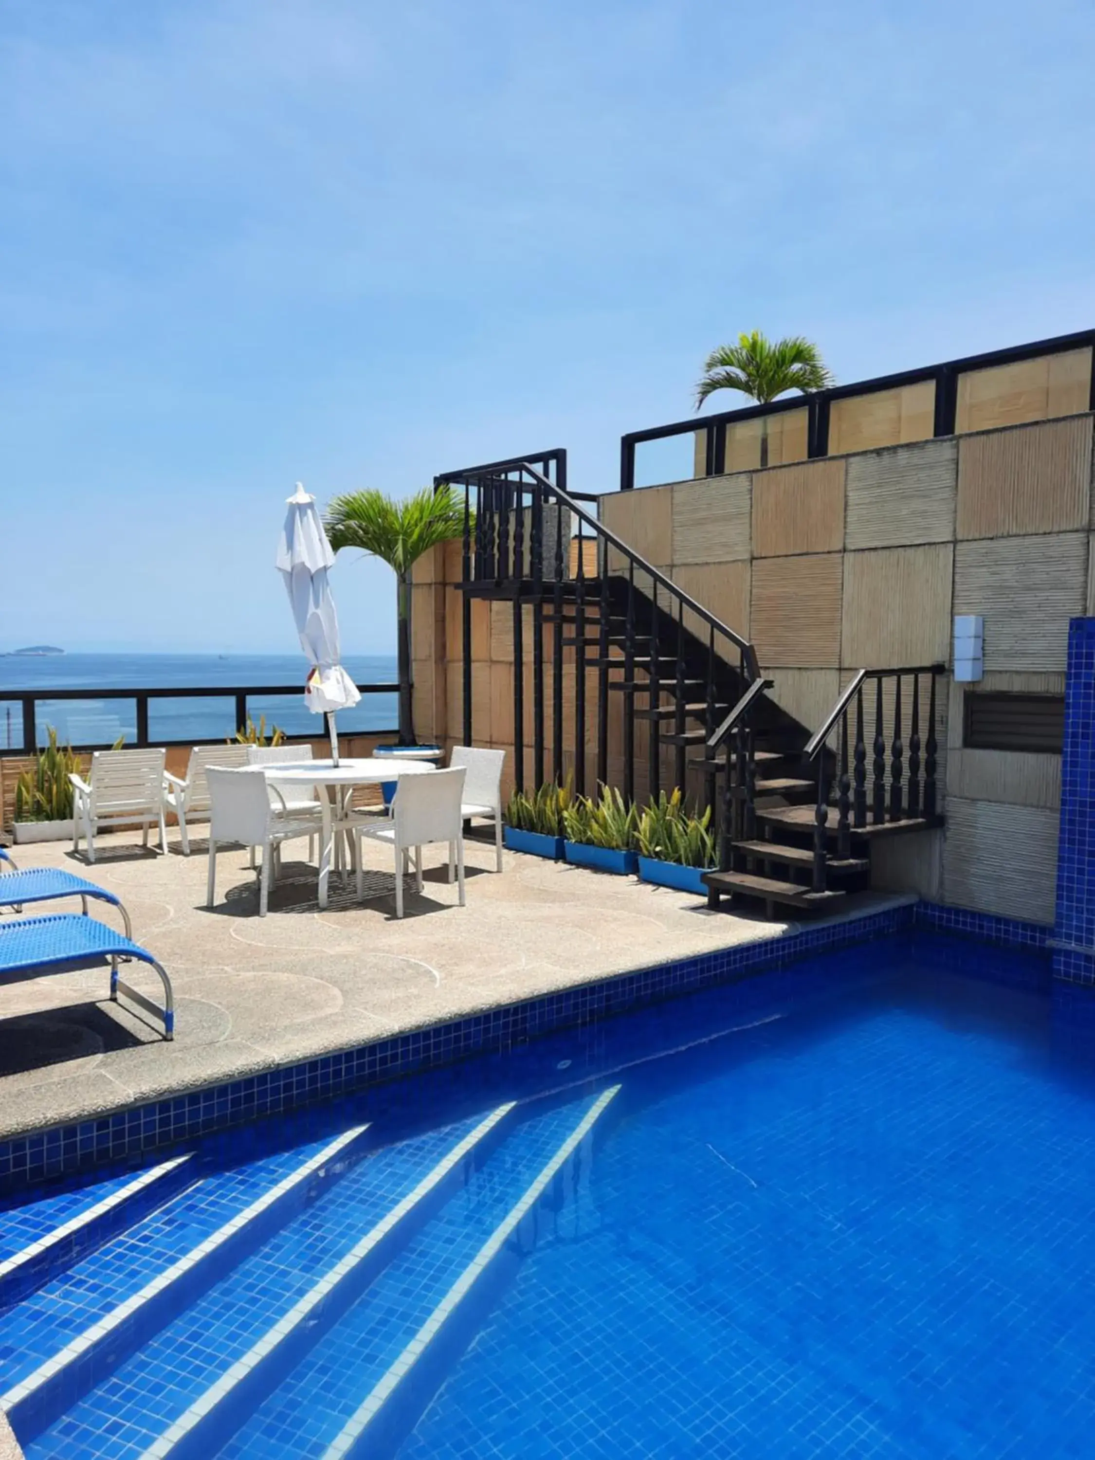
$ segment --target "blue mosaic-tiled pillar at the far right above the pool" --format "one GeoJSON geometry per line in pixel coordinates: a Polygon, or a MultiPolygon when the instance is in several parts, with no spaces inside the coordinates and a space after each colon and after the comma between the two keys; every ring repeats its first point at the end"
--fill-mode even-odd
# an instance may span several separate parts
{"type": "Polygon", "coordinates": [[[1095,984],[1095,618],[1069,623],[1054,940],[1054,975],[1095,984]]]}

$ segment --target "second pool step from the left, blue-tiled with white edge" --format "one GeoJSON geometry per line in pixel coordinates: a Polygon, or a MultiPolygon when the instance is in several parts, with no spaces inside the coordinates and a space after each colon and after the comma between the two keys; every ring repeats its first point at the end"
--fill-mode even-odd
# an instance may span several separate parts
{"type": "Polygon", "coordinates": [[[26,1447],[251,1244],[315,1200],[345,1174],[366,1129],[199,1183],[9,1310],[0,1362],[16,1381],[0,1412],[19,1441],[26,1447]]]}

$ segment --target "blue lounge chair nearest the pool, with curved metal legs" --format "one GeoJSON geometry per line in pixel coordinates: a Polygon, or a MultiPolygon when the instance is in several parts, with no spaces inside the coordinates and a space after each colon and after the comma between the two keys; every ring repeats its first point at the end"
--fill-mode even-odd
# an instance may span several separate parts
{"type": "MultiPolygon", "coordinates": [[[[66,876],[67,873],[61,873],[66,876]]],[[[25,873],[19,873],[25,876],[25,873]]],[[[7,880],[6,877],[3,880],[7,880]]],[[[74,879],[79,880],[79,879],[74,879]]],[[[102,892],[102,889],[98,889],[102,892]]],[[[108,901],[117,902],[107,894],[108,901]]],[[[19,983],[38,974],[67,974],[77,968],[111,965],[111,999],[126,994],[140,1009],[164,1021],[164,1037],[175,1037],[175,1002],[171,980],[147,949],[79,912],[53,917],[19,917],[0,923],[0,984],[19,983]],[[118,977],[118,959],[133,958],[155,968],[164,983],[164,1007],[118,977]]]]}

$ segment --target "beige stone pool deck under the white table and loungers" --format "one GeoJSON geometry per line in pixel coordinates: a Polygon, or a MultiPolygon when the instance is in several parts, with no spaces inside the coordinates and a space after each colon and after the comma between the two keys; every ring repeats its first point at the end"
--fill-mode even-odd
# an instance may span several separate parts
{"type": "MultiPolygon", "coordinates": [[[[407,883],[394,917],[387,848],[366,844],[366,901],[331,875],[320,912],[315,869],[286,858],[257,917],[256,877],[242,851],[218,857],[218,901],[206,896],[206,842],[182,857],[145,851],[134,834],[99,840],[93,866],[67,842],[15,848],[20,867],[66,867],[117,894],[133,934],[166,968],[175,1041],[107,997],[105,969],[0,986],[0,1137],[124,1110],[277,1066],[353,1048],[613,974],[742,943],[802,924],[710,912],[695,896],[467,841],[467,905],[426,853],[425,891],[407,883]]],[[[914,896],[848,899],[847,921],[914,896]]],[[[76,911],[79,902],[35,912],[76,911]]],[[[112,926],[115,910],[92,908],[112,926]]],[[[810,926],[818,926],[812,923],[810,926]]],[[[127,977],[159,999],[159,980],[127,977]]]]}

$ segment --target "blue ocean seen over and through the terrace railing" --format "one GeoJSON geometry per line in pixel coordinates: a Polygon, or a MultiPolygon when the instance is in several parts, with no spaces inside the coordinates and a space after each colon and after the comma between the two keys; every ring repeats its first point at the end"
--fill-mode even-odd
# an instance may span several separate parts
{"type": "MultiPolygon", "coordinates": [[[[394,654],[349,654],[346,670],[359,685],[396,680],[394,654]]],[[[61,742],[110,745],[137,733],[136,702],[96,699],[96,689],[201,689],[223,685],[228,694],[210,699],[149,701],[149,739],[223,740],[235,733],[235,699],[231,691],[247,685],[299,685],[293,695],[256,695],[248,712],[257,721],[266,715],[267,730],[276,724],[286,734],[323,734],[323,720],[304,705],[308,661],[304,654],[42,654],[0,656],[0,749],[23,749],[22,704],[6,699],[4,691],[88,689],[86,699],[42,699],[36,705],[36,740],[45,743],[53,726],[61,742]]],[[[397,696],[362,695],[353,710],[339,712],[339,729],[394,730],[397,696]]]]}

